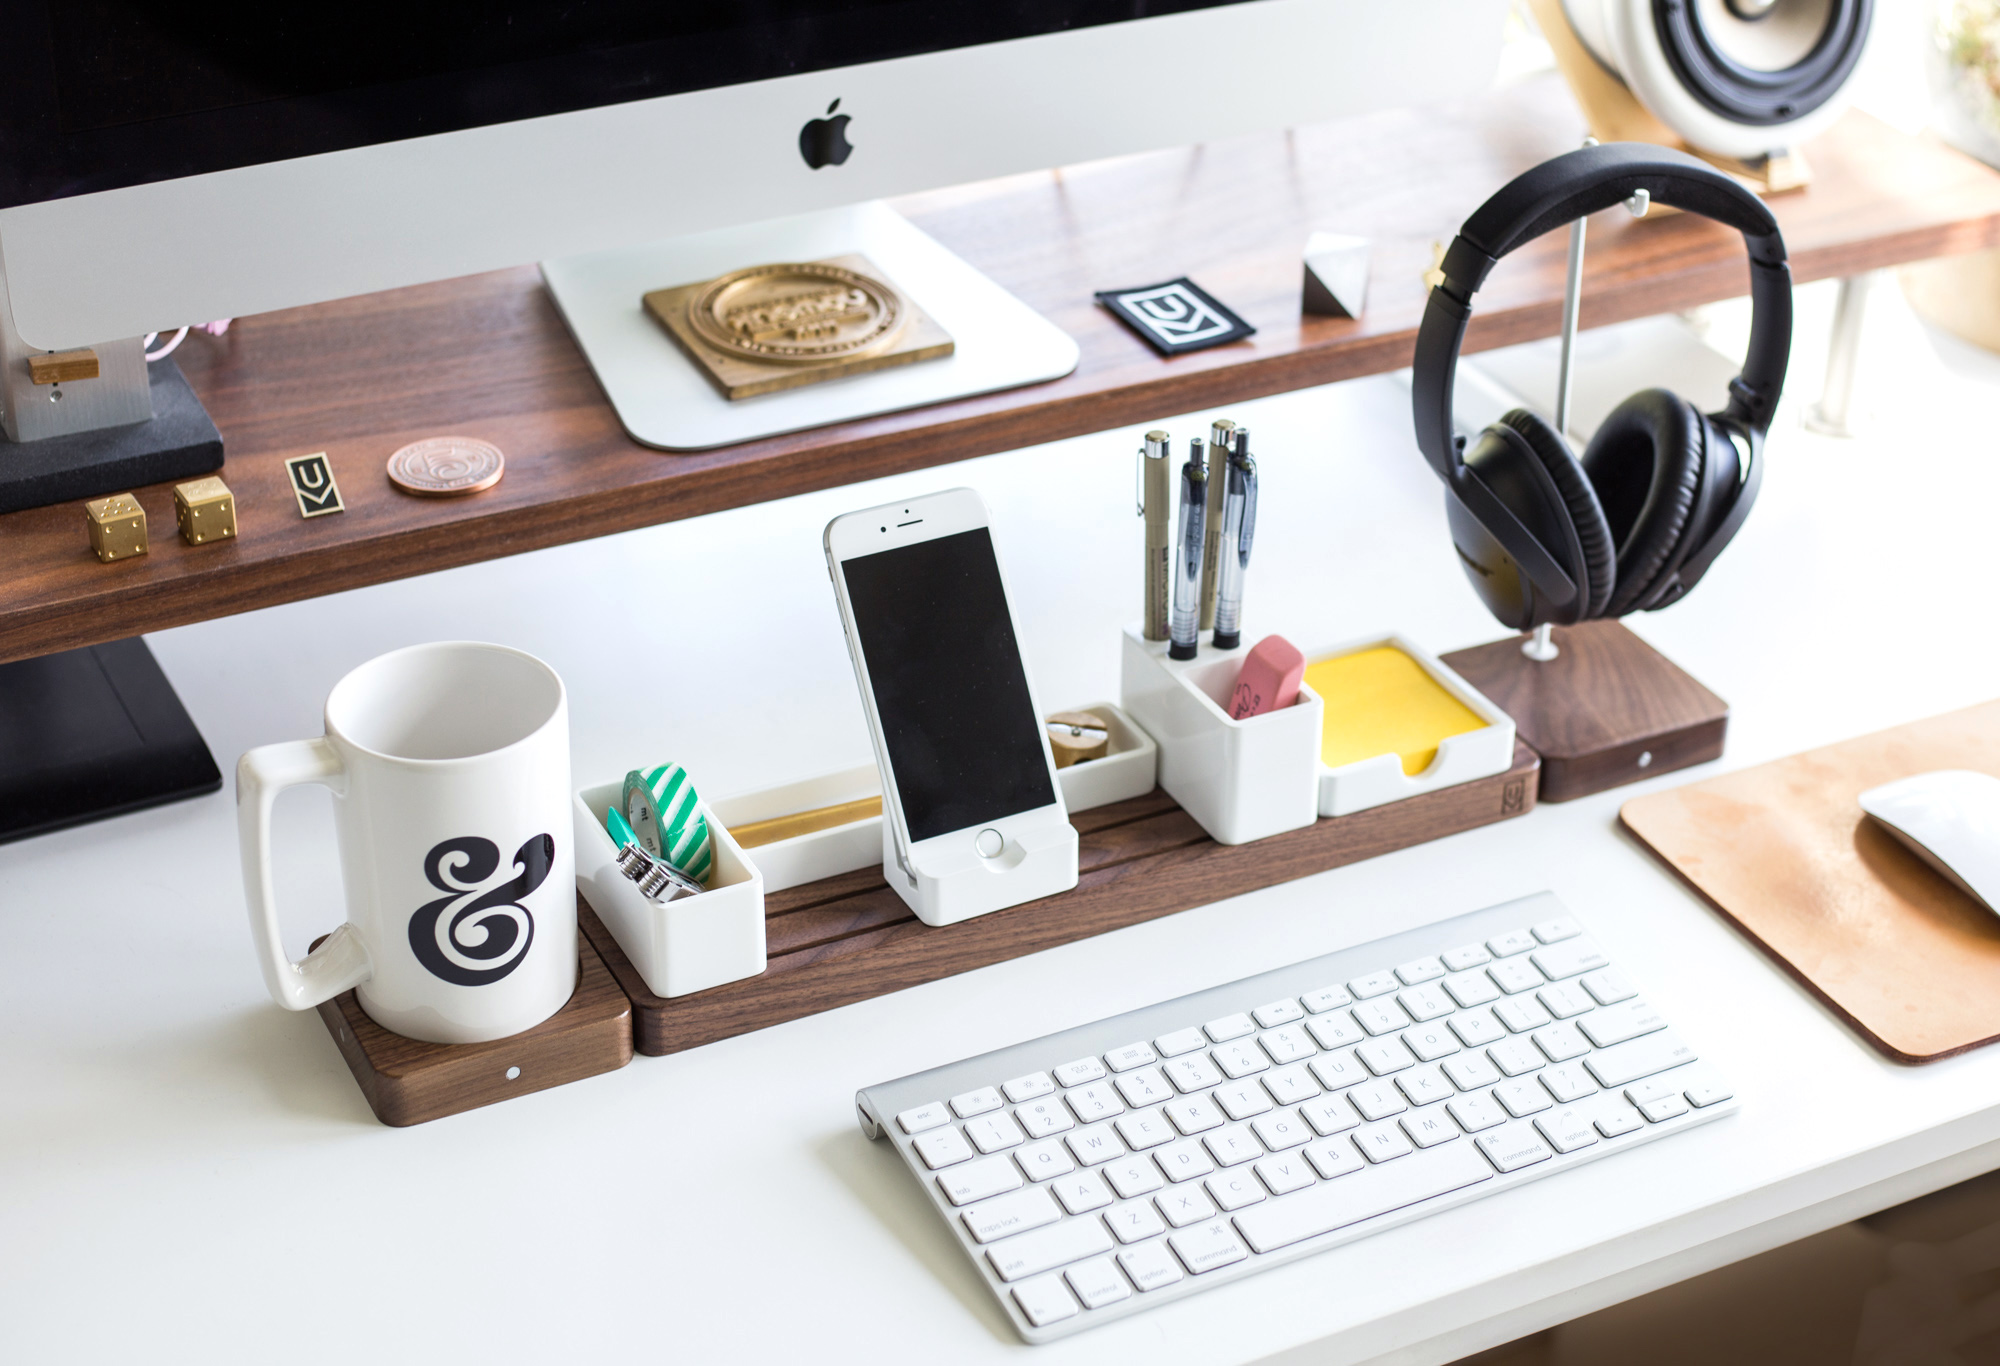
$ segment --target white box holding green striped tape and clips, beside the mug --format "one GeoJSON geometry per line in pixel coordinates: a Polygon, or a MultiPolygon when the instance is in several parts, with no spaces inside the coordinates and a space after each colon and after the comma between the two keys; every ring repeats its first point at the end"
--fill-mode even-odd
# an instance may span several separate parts
{"type": "Polygon", "coordinates": [[[618,872],[618,848],[604,812],[624,796],[622,782],[576,794],[576,890],[626,950],[656,996],[686,996],[764,970],[764,874],[702,802],[714,868],[708,890],[664,906],[618,872]]]}

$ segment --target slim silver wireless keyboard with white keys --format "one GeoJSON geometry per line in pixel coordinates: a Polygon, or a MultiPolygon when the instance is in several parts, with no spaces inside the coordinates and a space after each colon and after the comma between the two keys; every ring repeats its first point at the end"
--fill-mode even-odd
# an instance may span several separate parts
{"type": "Polygon", "coordinates": [[[1546,892],[856,1106],[1028,1342],[1738,1108],[1546,892]]]}

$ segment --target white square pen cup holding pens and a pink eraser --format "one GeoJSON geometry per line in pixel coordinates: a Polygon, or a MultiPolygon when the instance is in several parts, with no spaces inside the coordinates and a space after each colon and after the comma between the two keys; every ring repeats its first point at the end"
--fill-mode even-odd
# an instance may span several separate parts
{"type": "Polygon", "coordinates": [[[1222,710],[1254,640],[1246,634],[1236,650],[1204,640],[1192,660],[1170,660],[1164,640],[1124,632],[1124,708],[1160,746],[1160,786],[1216,844],[1320,816],[1320,694],[1300,686],[1292,706],[1248,720],[1222,710]]]}

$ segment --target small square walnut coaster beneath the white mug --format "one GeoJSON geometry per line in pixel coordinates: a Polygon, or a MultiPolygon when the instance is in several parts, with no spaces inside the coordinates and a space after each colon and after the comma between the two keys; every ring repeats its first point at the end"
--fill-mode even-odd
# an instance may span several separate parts
{"type": "MultiPolygon", "coordinates": [[[[318,948],[318,942],[314,942],[318,948]]],[[[616,1072],[632,1062],[632,1004],[588,942],[570,1004],[490,1044],[426,1044],[390,1034],[354,992],[320,1004],[326,1032],[384,1124],[406,1126],[616,1072]],[[520,1068],[508,1078],[508,1068],[520,1068]]]]}

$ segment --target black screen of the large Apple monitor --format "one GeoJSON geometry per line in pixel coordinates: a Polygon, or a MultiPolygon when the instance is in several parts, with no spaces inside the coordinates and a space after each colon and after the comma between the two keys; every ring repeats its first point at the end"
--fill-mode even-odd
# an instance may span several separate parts
{"type": "Polygon", "coordinates": [[[0,208],[1240,2],[0,0],[0,208]]]}

